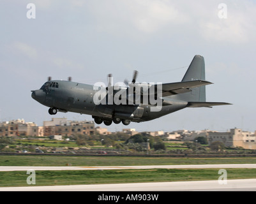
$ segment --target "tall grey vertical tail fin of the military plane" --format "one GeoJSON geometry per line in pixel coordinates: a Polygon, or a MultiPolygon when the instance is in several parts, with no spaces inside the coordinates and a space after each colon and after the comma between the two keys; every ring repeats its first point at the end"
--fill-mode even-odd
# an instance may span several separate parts
{"type": "MultiPolygon", "coordinates": [[[[188,82],[193,80],[205,80],[206,71],[204,64],[204,57],[195,55],[191,62],[186,74],[184,75],[182,82],[188,82]]],[[[206,87],[195,87],[191,89],[191,92],[177,95],[177,99],[182,101],[194,101],[194,102],[205,102],[206,101],[206,87]]]]}

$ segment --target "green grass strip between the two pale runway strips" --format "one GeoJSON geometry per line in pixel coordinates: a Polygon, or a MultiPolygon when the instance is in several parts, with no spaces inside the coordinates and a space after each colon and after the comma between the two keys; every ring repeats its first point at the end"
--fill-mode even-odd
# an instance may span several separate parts
{"type": "MultiPolygon", "coordinates": [[[[227,179],[252,179],[256,169],[226,169],[227,179]]],[[[218,180],[218,169],[77,170],[36,171],[36,185],[28,185],[26,171],[0,171],[0,187],[117,184],[132,182],[173,182],[218,180]]]]}

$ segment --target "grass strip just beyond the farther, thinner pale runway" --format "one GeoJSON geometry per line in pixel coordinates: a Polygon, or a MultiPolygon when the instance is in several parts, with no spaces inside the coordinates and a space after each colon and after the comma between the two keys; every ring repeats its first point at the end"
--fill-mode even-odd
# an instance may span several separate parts
{"type": "Polygon", "coordinates": [[[181,164],[255,164],[255,157],[170,158],[105,156],[0,156],[0,166],[140,166],[181,164]]]}

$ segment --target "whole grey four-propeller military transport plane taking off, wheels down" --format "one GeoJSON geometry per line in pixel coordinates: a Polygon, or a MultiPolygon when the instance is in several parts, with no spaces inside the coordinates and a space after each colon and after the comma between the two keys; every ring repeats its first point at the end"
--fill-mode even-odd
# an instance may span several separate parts
{"type": "Polygon", "coordinates": [[[49,107],[50,115],[57,112],[75,112],[92,115],[96,124],[110,126],[112,122],[124,125],[144,122],[183,108],[230,105],[206,102],[204,57],[195,55],[181,82],[169,84],[139,84],[137,71],[132,82],[113,86],[112,75],[108,85],[87,85],[68,81],[51,80],[41,89],[31,91],[32,98],[49,107]]]}

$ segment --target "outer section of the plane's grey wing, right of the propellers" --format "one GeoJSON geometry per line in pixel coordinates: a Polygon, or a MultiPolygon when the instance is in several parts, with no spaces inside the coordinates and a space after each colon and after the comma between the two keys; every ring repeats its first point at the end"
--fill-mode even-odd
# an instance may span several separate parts
{"type": "MultiPolygon", "coordinates": [[[[194,80],[188,82],[176,82],[169,84],[162,84],[162,97],[172,96],[176,94],[182,94],[185,92],[190,92],[192,88],[200,87],[202,85],[213,84],[204,80],[194,80]]],[[[157,89],[157,85],[154,85],[154,89],[157,92],[160,92],[160,89],[157,89]]]]}

